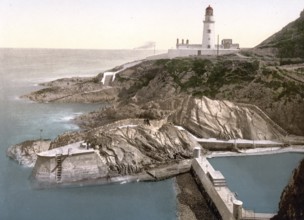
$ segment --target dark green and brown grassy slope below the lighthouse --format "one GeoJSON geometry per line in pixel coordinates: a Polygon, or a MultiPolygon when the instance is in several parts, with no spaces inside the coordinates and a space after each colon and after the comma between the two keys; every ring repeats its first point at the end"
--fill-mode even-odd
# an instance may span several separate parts
{"type": "MultiPolygon", "coordinates": [[[[158,60],[149,68],[123,90],[124,100],[129,102],[128,98],[136,96],[144,103],[188,94],[250,103],[260,107],[290,133],[304,134],[304,87],[300,80],[289,77],[289,70],[254,58],[240,60],[236,57],[158,60]]],[[[134,71],[136,75],[137,70],[134,71]]],[[[296,71],[304,82],[303,69],[296,71]]]]}

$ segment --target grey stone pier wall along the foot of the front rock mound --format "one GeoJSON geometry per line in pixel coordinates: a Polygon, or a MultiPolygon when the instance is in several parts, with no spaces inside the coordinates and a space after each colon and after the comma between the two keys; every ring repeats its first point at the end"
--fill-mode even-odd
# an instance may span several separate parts
{"type": "MultiPolygon", "coordinates": [[[[33,186],[35,188],[48,188],[64,186],[88,186],[113,183],[124,184],[129,182],[140,181],[160,181],[174,177],[178,174],[189,172],[192,164],[192,160],[188,159],[181,160],[172,164],[166,164],[158,168],[144,170],[140,173],[134,173],[123,176],[111,175],[108,173],[107,169],[104,169],[104,165],[101,164],[102,166],[100,167],[97,166],[97,164],[91,164],[91,159],[95,156],[94,154],[85,155],[87,156],[87,161],[84,161],[82,159],[83,155],[80,158],[77,157],[65,159],[63,162],[65,163],[65,165],[62,169],[60,181],[58,181],[58,176],[56,175],[58,169],[58,167],[56,167],[56,158],[50,159],[46,157],[40,157],[38,159],[39,161],[37,161],[36,166],[32,171],[31,179],[33,182],[33,186]],[[75,171],[71,172],[68,167],[70,167],[71,169],[75,169],[75,171]]],[[[101,162],[99,162],[99,165],[100,163],[101,162]]]]}

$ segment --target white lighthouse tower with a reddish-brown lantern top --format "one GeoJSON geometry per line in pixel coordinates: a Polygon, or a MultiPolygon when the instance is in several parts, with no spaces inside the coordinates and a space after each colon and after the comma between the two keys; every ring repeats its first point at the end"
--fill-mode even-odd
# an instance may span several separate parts
{"type": "Polygon", "coordinates": [[[209,5],[206,8],[203,32],[203,49],[215,49],[215,33],[213,8],[209,5]]]}

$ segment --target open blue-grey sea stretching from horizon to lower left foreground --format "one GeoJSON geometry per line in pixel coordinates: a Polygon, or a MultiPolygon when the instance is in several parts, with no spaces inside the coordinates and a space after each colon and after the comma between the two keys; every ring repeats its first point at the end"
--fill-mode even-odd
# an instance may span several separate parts
{"type": "Polygon", "coordinates": [[[72,119],[103,106],[39,104],[21,95],[40,89],[41,82],[94,76],[151,55],[154,51],[0,49],[0,220],[177,219],[174,179],[35,189],[31,169],[6,156],[10,145],[79,130],[72,119]]]}

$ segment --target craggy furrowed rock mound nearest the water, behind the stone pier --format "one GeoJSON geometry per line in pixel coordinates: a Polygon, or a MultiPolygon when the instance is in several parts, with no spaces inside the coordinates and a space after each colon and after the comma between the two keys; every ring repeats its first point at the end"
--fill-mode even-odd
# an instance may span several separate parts
{"type": "Polygon", "coordinates": [[[128,175],[192,158],[199,146],[187,132],[160,121],[128,121],[93,129],[85,142],[99,149],[111,175],[128,175]]]}

